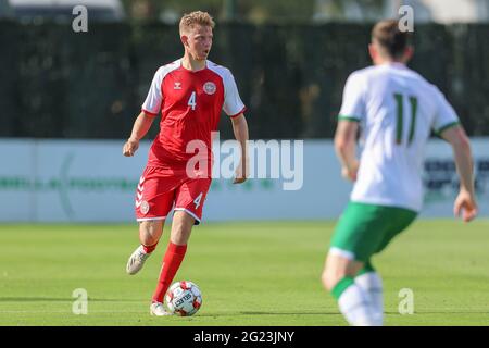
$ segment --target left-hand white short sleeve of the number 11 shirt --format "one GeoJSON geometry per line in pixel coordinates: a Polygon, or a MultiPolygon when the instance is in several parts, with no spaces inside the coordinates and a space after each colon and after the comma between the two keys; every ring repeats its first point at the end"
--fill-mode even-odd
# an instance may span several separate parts
{"type": "Polygon", "coordinates": [[[361,121],[365,117],[365,83],[362,75],[351,74],[343,89],[338,120],[361,121]]]}

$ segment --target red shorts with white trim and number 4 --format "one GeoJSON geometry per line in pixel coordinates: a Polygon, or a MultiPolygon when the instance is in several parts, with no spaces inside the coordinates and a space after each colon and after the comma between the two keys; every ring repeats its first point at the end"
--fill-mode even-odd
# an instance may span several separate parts
{"type": "Polygon", "coordinates": [[[211,182],[188,177],[185,171],[146,167],[136,191],[136,220],[164,220],[174,208],[187,212],[198,225],[211,182]]]}

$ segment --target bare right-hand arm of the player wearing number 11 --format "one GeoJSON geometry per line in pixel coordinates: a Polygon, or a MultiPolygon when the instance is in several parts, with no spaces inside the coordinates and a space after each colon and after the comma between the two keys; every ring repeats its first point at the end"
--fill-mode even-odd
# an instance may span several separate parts
{"type": "Polygon", "coordinates": [[[462,214],[462,219],[469,222],[477,215],[471,142],[460,125],[443,130],[441,137],[452,146],[460,176],[460,192],[453,206],[453,213],[456,216],[462,214]]]}

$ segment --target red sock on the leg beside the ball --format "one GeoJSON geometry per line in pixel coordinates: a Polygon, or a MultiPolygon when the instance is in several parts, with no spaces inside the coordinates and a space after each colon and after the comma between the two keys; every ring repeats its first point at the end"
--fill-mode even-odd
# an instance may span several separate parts
{"type": "Polygon", "coordinates": [[[160,278],[158,281],[156,290],[153,294],[153,302],[163,302],[163,297],[172,284],[175,274],[177,273],[181,261],[184,260],[187,245],[177,246],[170,241],[163,258],[161,266],[160,278]]]}

